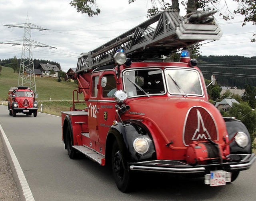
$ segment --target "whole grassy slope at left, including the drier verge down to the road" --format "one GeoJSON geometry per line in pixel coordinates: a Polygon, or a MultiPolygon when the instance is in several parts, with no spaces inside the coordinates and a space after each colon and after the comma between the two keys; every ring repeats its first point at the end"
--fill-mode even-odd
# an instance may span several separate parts
{"type": "MultiPolygon", "coordinates": [[[[12,68],[2,67],[0,72],[0,101],[7,100],[8,91],[11,87],[18,85],[18,73],[14,73],[12,68]]],[[[72,92],[77,89],[74,82],[57,82],[56,78],[36,78],[36,92],[38,94],[38,111],[43,104],[43,112],[53,115],[61,115],[60,111],[69,111],[72,103],[72,92]],[[51,99],[51,101],[50,101],[51,99]],[[62,101],[63,100],[63,101],[62,101]]],[[[83,94],[79,96],[83,100],[83,94]]],[[[7,102],[5,102],[7,105],[7,102]]],[[[84,109],[85,105],[77,103],[77,109],[84,109]]]]}

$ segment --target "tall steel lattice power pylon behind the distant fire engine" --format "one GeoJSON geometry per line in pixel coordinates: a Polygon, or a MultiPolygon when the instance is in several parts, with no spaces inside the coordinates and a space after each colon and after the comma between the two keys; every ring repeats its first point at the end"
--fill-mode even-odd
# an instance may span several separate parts
{"type": "Polygon", "coordinates": [[[37,29],[39,31],[50,30],[50,29],[45,29],[40,26],[31,24],[29,22],[28,16],[27,16],[26,22],[24,24],[13,24],[13,25],[3,24],[3,25],[8,26],[8,28],[11,28],[11,27],[24,28],[22,44],[9,43],[9,42],[1,42],[1,43],[2,44],[22,45],[18,86],[30,85],[30,88],[34,91],[34,93],[36,94],[36,97],[37,97],[38,94],[36,93],[36,78],[35,78],[32,48],[36,48],[36,47],[54,48],[54,47],[31,40],[31,29],[37,29]],[[26,72],[26,75],[24,74],[24,72],[26,72]]]}

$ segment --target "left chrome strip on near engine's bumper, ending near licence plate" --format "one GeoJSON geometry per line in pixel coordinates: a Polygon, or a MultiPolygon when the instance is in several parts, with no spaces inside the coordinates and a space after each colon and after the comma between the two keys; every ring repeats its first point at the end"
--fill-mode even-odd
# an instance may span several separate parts
{"type": "Polygon", "coordinates": [[[204,167],[195,168],[170,168],[170,167],[146,167],[139,165],[131,165],[131,170],[137,171],[154,171],[154,172],[168,172],[168,173],[204,173],[204,167]]]}

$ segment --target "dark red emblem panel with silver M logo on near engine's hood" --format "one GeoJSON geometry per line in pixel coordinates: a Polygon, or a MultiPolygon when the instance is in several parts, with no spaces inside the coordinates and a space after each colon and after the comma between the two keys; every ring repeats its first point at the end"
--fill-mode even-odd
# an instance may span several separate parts
{"type": "Polygon", "coordinates": [[[189,145],[191,141],[208,141],[208,139],[218,139],[216,123],[212,115],[202,107],[192,107],[185,119],[183,129],[184,145],[189,145]]]}

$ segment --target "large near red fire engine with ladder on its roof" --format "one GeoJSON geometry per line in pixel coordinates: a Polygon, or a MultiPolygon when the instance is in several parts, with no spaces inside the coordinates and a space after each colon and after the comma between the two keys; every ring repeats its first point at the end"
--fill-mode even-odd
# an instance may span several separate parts
{"type": "Polygon", "coordinates": [[[158,60],[218,40],[222,32],[210,14],[181,18],[166,10],[81,54],[73,106],[62,111],[62,140],[71,159],[83,153],[110,164],[122,192],[130,190],[135,172],[204,176],[206,184],[218,186],[254,163],[248,130],[208,101],[189,52],[182,51],[180,62],[158,60]],[[78,102],[86,108],[76,109],[78,102]]]}

